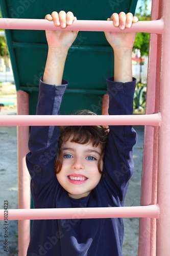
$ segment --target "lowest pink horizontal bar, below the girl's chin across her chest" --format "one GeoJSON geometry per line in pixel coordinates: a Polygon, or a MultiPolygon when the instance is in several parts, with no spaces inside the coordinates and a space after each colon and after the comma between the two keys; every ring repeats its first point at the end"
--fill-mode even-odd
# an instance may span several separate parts
{"type": "MultiPolygon", "coordinates": [[[[159,218],[158,205],[97,208],[8,209],[8,220],[159,218]]],[[[0,210],[4,220],[4,210],[0,210]]]]}

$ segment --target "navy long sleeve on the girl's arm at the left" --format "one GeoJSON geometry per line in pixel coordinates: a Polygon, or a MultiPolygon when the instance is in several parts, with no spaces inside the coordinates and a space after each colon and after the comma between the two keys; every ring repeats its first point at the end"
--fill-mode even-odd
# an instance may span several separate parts
{"type": "MultiPolygon", "coordinates": [[[[63,80],[61,86],[43,83],[40,80],[37,115],[59,115],[63,94],[67,87],[63,80]]],[[[31,176],[31,191],[36,202],[41,197],[46,200],[48,189],[53,189],[57,179],[54,162],[58,150],[58,126],[32,126],[26,162],[31,176]]],[[[42,200],[41,200],[42,202],[42,200]]]]}

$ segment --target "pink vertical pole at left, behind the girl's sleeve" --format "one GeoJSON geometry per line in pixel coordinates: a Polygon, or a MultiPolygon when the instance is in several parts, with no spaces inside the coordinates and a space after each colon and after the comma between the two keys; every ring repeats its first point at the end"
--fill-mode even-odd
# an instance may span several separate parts
{"type": "MultiPolygon", "coordinates": [[[[17,92],[17,114],[29,115],[29,95],[26,92],[17,92]]],[[[30,176],[26,166],[28,149],[29,126],[17,127],[18,140],[18,208],[30,208],[30,176]]],[[[27,255],[30,241],[30,221],[18,221],[18,255],[27,255]]]]}

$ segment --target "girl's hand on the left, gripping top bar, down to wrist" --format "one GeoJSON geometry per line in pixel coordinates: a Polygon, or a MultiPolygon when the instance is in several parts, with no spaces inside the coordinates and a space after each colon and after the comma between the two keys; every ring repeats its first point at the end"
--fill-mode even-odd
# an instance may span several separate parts
{"type": "MultiPolygon", "coordinates": [[[[74,16],[72,12],[65,13],[64,11],[60,11],[57,13],[56,11],[52,12],[52,14],[47,14],[45,19],[54,22],[56,27],[65,28],[66,26],[70,26],[73,20],[77,18],[74,16]]],[[[66,49],[68,50],[72,43],[75,41],[78,31],[57,31],[57,30],[46,30],[46,39],[48,43],[48,48],[50,49],[66,49]]]]}

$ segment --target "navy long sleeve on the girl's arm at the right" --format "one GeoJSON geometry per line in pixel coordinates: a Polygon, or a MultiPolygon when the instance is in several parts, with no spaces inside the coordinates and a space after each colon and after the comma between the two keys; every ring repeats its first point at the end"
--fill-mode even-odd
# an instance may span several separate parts
{"type": "MultiPolygon", "coordinates": [[[[132,115],[133,95],[136,80],[114,82],[107,79],[109,94],[109,115],[132,115]]],[[[108,143],[104,162],[104,183],[111,191],[114,205],[123,206],[129,184],[134,172],[132,148],[136,143],[136,132],[130,125],[109,126],[108,143]]]]}

